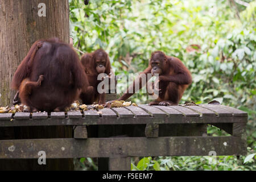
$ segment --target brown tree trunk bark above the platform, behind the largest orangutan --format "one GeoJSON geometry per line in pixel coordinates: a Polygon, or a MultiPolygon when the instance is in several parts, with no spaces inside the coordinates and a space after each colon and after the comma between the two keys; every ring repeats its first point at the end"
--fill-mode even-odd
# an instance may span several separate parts
{"type": "Polygon", "coordinates": [[[39,39],[58,37],[69,42],[68,0],[0,1],[0,105],[11,105],[10,85],[16,68],[39,39]],[[46,16],[39,16],[46,5],[46,16]]]}

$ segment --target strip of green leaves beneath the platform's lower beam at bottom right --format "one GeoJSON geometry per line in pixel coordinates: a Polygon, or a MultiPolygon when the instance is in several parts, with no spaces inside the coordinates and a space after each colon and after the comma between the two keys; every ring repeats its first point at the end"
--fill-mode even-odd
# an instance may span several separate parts
{"type": "MultiPolygon", "coordinates": [[[[255,154],[254,154],[255,155],[255,154]]],[[[255,170],[253,154],[247,156],[180,156],[180,157],[158,157],[155,160],[149,160],[146,169],[161,170],[161,171],[178,171],[178,170],[219,170],[219,171],[231,171],[231,170],[255,170]],[[249,159],[250,158],[250,159],[249,159]],[[243,160],[248,164],[243,164],[243,160]]],[[[145,158],[143,158],[145,159],[145,158]]],[[[141,160],[143,160],[141,159],[141,160]]],[[[140,161],[141,162],[141,161],[140,161]]],[[[138,168],[132,168],[138,170],[138,168]]],[[[145,169],[145,168],[144,168],[145,169]]]]}

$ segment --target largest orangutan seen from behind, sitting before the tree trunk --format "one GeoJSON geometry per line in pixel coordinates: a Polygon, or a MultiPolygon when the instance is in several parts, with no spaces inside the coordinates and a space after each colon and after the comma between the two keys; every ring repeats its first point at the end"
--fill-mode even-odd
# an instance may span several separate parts
{"type": "Polygon", "coordinates": [[[79,56],[57,38],[36,41],[12,82],[30,111],[63,111],[87,86],[79,56]]]}

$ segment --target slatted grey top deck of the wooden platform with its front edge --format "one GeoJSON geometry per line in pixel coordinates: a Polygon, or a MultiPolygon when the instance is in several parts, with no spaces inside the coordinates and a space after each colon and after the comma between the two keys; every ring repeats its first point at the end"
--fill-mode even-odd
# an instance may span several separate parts
{"type": "Polygon", "coordinates": [[[0,114],[0,127],[54,125],[130,125],[181,123],[246,123],[247,113],[224,105],[104,108],[84,112],[0,114]],[[11,121],[11,119],[13,119],[11,121]]]}

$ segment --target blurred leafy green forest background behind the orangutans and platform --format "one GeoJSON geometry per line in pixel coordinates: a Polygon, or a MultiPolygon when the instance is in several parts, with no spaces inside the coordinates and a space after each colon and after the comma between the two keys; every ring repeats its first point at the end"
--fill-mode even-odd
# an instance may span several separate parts
{"type": "MultiPolygon", "coordinates": [[[[73,46],[82,52],[105,49],[115,75],[142,72],[151,52],[160,50],[178,57],[192,73],[193,83],[180,103],[217,100],[249,114],[247,156],[133,158],[132,169],[256,169],[256,1],[91,0],[85,6],[82,0],[69,0],[69,5],[73,46]]],[[[130,100],[148,102],[146,94],[130,100]]],[[[208,134],[225,131],[209,126],[208,134]]],[[[97,166],[81,158],[76,168],[97,166]]]]}

